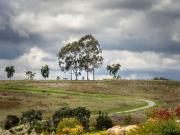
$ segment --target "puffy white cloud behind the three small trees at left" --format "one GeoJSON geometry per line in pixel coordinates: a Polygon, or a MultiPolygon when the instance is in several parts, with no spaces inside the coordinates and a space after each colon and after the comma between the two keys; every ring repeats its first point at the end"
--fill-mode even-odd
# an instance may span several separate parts
{"type": "MultiPolygon", "coordinates": [[[[58,61],[53,56],[48,53],[45,53],[41,49],[34,47],[30,49],[30,52],[23,54],[21,57],[16,58],[14,60],[0,60],[0,71],[1,77],[0,79],[6,78],[6,73],[4,72],[4,68],[6,66],[13,65],[15,67],[15,76],[14,79],[25,79],[25,72],[31,70],[36,74],[35,79],[42,79],[40,69],[42,65],[49,65],[52,71],[56,72],[58,70],[58,61]],[[48,58],[51,61],[45,61],[43,58],[48,58]]],[[[49,79],[55,79],[56,74],[50,74],[49,79]]]]}

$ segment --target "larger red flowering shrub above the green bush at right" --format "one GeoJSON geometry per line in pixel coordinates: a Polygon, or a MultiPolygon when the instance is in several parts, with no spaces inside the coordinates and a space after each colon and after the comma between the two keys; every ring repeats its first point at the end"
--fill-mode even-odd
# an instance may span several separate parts
{"type": "Polygon", "coordinates": [[[173,112],[168,109],[155,109],[153,110],[152,118],[168,120],[173,118],[173,112]]]}

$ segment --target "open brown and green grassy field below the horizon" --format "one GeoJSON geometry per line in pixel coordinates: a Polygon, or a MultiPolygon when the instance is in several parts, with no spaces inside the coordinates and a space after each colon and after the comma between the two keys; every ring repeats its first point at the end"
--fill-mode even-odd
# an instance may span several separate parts
{"type": "Polygon", "coordinates": [[[157,106],[180,105],[178,81],[0,81],[0,121],[30,108],[50,117],[62,106],[85,106],[97,114],[126,111],[155,101],[157,106]]]}

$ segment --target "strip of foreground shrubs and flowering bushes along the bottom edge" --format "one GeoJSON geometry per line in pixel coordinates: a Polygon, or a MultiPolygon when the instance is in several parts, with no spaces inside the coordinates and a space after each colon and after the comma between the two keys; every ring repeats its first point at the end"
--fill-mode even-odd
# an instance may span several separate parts
{"type": "Polygon", "coordinates": [[[41,111],[29,110],[21,117],[8,115],[2,135],[179,135],[180,107],[174,109],[154,109],[148,120],[137,125],[115,126],[112,119],[99,112],[94,125],[90,125],[90,111],[85,107],[57,110],[50,119],[43,120],[41,111]],[[19,126],[20,125],[20,126],[19,126]],[[118,128],[117,128],[118,127],[118,128]]]}

